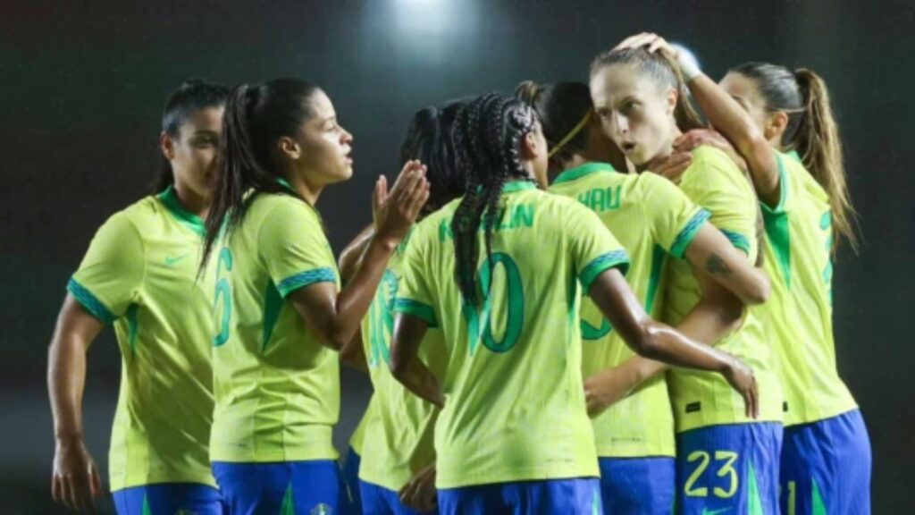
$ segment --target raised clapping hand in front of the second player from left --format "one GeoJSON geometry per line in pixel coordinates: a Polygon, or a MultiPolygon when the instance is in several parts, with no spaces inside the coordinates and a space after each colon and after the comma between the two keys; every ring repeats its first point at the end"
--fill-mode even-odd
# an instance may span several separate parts
{"type": "Polygon", "coordinates": [[[410,160],[404,164],[391,192],[388,192],[387,179],[383,175],[379,177],[371,196],[376,237],[391,245],[400,243],[428,198],[425,165],[419,161],[410,160]]]}

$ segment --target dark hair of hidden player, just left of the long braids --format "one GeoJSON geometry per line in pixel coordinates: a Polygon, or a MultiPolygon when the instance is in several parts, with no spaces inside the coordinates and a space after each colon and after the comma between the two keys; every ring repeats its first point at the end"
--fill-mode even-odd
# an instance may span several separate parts
{"type": "Polygon", "coordinates": [[[429,181],[429,200],[423,213],[430,214],[464,194],[467,180],[455,155],[453,142],[455,119],[466,102],[452,101],[417,111],[407,127],[401,145],[401,166],[418,159],[425,164],[429,181]]]}

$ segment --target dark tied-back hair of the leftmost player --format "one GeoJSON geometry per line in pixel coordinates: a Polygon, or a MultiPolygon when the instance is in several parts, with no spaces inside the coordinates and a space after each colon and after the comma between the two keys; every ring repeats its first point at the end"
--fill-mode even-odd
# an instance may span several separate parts
{"type": "MultiPolygon", "coordinates": [[[[206,82],[200,79],[189,79],[183,82],[178,89],[168,95],[166,106],[162,110],[162,132],[178,139],[181,125],[188,120],[190,115],[208,109],[225,105],[229,97],[229,88],[206,82]]],[[[160,153],[161,155],[161,153],[160,153]]],[[[153,183],[153,192],[162,192],[175,183],[175,173],[165,156],[161,156],[159,172],[153,183]]]]}

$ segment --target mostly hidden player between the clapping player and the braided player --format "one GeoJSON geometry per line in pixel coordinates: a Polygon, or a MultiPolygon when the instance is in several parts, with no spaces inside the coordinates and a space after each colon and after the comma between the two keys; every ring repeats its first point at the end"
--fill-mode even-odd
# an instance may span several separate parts
{"type": "MultiPolygon", "coordinates": [[[[401,162],[416,159],[428,169],[430,194],[421,216],[434,213],[464,192],[451,142],[455,116],[462,105],[451,102],[420,109],[407,128],[401,162]]],[[[369,234],[358,236],[344,251],[341,272],[358,261],[369,234]]],[[[369,316],[362,321],[362,342],[375,389],[374,419],[365,431],[365,439],[371,444],[363,446],[360,470],[362,506],[367,515],[420,513],[434,508],[436,500],[433,436],[438,409],[404,389],[389,368],[393,301],[408,245],[409,236],[388,263],[369,316]]],[[[440,331],[425,334],[420,358],[436,375],[444,374],[445,344],[440,331]]]]}

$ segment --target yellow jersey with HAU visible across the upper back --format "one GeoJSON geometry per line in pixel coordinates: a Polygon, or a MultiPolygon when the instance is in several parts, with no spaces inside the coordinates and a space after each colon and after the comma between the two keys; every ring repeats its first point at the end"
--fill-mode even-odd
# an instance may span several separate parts
{"type": "MultiPolygon", "coordinates": [[[[626,279],[652,318],[660,319],[668,255],[682,258],[709,214],[671,181],[651,173],[623,174],[588,163],[560,174],[550,192],[577,199],[597,213],[630,254],[626,279]]],[[[582,300],[583,372],[588,378],[635,356],[594,301],[582,300]]],[[[673,412],[663,376],[592,419],[597,455],[673,456],[673,412]]]]}

